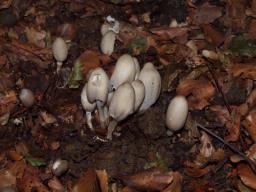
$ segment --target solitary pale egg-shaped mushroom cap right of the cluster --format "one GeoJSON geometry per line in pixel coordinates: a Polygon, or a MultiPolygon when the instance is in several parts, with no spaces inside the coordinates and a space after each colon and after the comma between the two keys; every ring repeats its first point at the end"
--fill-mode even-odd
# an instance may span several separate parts
{"type": "Polygon", "coordinates": [[[168,106],[166,113],[166,125],[171,131],[181,129],[187,119],[188,102],[184,96],[174,97],[168,106]]]}

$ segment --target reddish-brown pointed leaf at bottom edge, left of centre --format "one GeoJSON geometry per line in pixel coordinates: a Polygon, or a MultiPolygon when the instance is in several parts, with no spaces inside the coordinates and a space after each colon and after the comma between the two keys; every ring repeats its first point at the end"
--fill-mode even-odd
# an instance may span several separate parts
{"type": "Polygon", "coordinates": [[[75,184],[72,192],[100,192],[96,172],[92,169],[86,171],[77,184],[75,184]]]}

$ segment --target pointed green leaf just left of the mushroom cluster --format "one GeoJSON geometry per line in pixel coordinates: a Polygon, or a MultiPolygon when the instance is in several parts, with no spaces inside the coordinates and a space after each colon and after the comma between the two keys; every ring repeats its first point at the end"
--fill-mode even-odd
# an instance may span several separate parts
{"type": "Polygon", "coordinates": [[[68,81],[68,87],[73,89],[78,88],[79,81],[82,81],[83,79],[84,76],[81,69],[81,63],[79,60],[76,60],[68,81]]]}

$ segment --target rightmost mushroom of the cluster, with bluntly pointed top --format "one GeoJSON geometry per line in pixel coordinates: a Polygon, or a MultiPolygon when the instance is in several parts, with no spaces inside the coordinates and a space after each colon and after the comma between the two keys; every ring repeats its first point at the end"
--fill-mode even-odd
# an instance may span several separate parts
{"type": "Polygon", "coordinates": [[[140,71],[138,79],[141,80],[145,86],[145,98],[139,108],[140,113],[143,113],[156,102],[160,95],[161,76],[153,63],[149,62],[146,63],[140,71]]]}

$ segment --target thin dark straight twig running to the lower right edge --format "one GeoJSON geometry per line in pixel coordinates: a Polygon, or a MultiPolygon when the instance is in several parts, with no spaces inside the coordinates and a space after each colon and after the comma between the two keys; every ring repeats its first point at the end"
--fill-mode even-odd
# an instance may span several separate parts
{"type": "Polygon", "coordinates": [[[237,153],[238,155],[240,155],[241,157],[244,158],[244,160],[246,162],[249,163],[249,165],[251,166],[252,170],[256,173],[256,165],[255,163],[249,159],[244,153],[242,153],[241,151],[239,151],[238,149],[236,149],[233,145],[231,145],[230,143],[228,143],[227,141],[225,141],[224,139],[222,139],[220,136],[216,135],[215,133],[213,133],[212,131],[210,131],[209,129],[207,129],[206,127],[204,127],[203,125],[197,123],[197,127],[202,129],[203,131],[205,131],[206,133],[208,133],[209,135],[213,136],[214,138],[218,139],[220,142],[222,142],[224,145],[228,146],[233,152],[237,153]]]}

